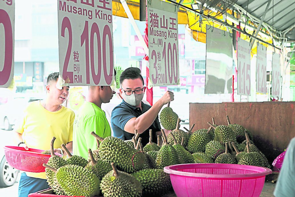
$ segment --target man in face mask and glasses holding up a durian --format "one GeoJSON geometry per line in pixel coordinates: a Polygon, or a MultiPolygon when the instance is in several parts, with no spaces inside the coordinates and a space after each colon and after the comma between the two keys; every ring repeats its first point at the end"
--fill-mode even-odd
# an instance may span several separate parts
{"type": "Polygon", "coordinates": [[[140,74],[140,69],[128,68],[120,76],[120,93],[123,96],[121,104],[112,111],[111,125],[114,136],[122,140],[132,139],[134,130],[140,133],[142,145],[149,141],[149,130],[153,131],[153,142],[156,142],[156,132],[160,131],[158,113],[161,108],[174,100],[173,92],[167,91],[151,107],[142,102],[146,87],[140,74]]]}

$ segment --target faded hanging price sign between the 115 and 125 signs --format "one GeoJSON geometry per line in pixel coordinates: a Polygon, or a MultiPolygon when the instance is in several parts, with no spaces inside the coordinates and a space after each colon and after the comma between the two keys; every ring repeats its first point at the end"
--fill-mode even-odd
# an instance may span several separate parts
{"type": "Polygon", "coordinates": [[[257,43],[256,92],[266,94],[266,47],[257,43]]]}

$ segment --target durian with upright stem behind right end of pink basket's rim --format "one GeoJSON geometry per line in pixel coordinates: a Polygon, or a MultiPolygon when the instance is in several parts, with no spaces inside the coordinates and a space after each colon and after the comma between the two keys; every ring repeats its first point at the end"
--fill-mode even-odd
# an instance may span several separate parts
{"type": "Polygon", "coordinates": [[[238,164],[263,166],[263,158],[257,152],[250,152],[249,143],[247,142],[247,153],[240,157],[238,164]]]}

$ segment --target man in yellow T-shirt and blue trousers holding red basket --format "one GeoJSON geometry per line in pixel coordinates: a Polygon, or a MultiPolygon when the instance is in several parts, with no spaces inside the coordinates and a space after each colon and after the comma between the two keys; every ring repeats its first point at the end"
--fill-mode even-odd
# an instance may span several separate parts
{"type": "MultiPolygon", "coordinates": [[[[24,117],[14,128],[18,145],[25,149],[49,150],[50,141],[55,137],[55,152],[61,153],[61,149],[58,149],[61,144],[67,144],[66,147],[72,151],[75,114],[61,105],[68,97],[69,87],[57,88],[58,75],[55,72],[47,77],[46,99],[31,102],[24,110],[24,117]]],[[[47,188],[45,172],[22,173],[18,196],[27,197],[30,193],[47,188]]]]}

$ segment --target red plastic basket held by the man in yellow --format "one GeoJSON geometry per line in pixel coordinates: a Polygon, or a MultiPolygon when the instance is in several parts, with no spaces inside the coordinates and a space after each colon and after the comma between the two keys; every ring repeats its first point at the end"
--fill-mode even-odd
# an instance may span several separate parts
{"type": "MultiPolygon", "coordinates": [[[[43,163],[47,163],[51,155],[41,154],[44,150],[24,149],[18,146],[4,146],[5,157],[9,165],[26,172],[45,172],[43,163]]],[[[55,155],[61,156],[59,153],[55,155]]]]}

